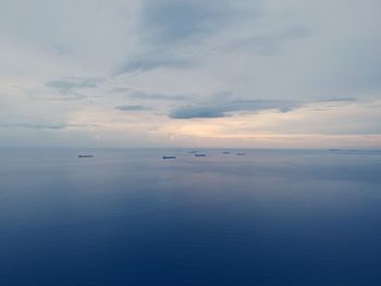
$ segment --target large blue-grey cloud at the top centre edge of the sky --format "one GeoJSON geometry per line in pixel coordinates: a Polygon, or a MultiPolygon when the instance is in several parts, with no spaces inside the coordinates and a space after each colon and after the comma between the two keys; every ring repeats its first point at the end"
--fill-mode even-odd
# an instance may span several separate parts
{"type": "Polygon", "coordinates": [[[138,21],[139,51],[115,75],[193,66],[182,49],[199,45],[223,29],[236,10],[236,4],[226,0],[144,0],[138,21]]]}

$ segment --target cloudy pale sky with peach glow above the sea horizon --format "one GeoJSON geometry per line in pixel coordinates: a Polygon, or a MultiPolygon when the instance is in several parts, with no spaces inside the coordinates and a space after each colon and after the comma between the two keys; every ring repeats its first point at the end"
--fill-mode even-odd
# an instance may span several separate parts
{"type": "Polygon", "coordinates": [[[0,0],[0,147],[381,148],[379,0],[0,0]]]}

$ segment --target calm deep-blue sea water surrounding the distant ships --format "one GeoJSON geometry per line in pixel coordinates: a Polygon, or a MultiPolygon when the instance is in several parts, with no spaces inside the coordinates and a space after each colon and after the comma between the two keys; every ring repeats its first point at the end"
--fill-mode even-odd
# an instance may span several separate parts
{"type": "Polygon", "coordinates": [[[0,285],[381,285],[381,152],[188,151],[1,150],[0,285]]]}

